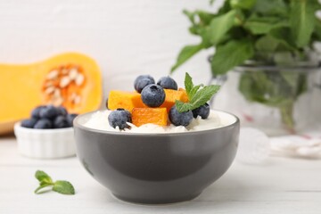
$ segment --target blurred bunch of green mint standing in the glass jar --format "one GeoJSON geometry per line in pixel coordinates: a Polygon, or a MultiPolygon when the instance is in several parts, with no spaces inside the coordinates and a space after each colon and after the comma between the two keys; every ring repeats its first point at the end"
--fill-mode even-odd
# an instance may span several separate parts
{"type": "MultiPolygon", "coordinates": [[[[317,0],[226,0],[217,13],[184,11],[192,23],[190,33],[201,41],[180,51],[171,72],[213,47],[214,77],[247,62],[251,67],[253,62],[286,67],[309,61],[314,42],[321,40],[321,21],[316,17],[320,9],[317,0]]],[[[307,74],[254,71],[241,74],[240,92],[250,102],[278,108],[285,127],[293,129],[293,104],[307,90],[307,74]]]]}

